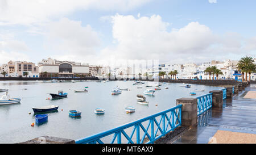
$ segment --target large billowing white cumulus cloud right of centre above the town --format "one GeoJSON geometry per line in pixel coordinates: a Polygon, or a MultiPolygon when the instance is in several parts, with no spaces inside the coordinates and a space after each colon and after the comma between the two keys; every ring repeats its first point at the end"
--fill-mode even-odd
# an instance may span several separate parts
{"type": "Polygon", "coordinates": [[[210,28],[198,22],[191,22],[180,29],[167,31],[170,23],[163,22],[159,15],[134,18],[132,15],[112,16],[113,39],[116,47],[101,51],[102,57],[114,55],[117,58],[170,60],[170,55],[180,53],[204,54],[217,37],[210,28]]]}

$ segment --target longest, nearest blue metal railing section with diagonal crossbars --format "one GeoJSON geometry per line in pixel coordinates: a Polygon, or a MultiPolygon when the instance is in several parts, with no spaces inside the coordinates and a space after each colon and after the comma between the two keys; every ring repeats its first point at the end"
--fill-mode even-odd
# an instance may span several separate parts
{"type": "MultiPolygon", "coordinates": [[[[174,131],[175,128],[181,125],[181,107],[182,105],[175,106],[168,110],[159,112],[157,114],[147,116],[146,118],[136,120],[125,125],[121,125],[117,128],[110,129],[109,131],[101,132],[93,136],[85,137],[83,139],[76,140],[77,144],[87,144],[87,143],[104,143],[104,138],[107,136],[113,136],[108,144],[113,143],[127,143],[127,144],[142,144],[147,136],[148,141],[146,143],[154,143],[160,137],[166,135],[170,131],[174,131]],[[157,118],[160,117],[158,121],[157,118]],[[147,123],[146,128],[142,123],[147,123]],[[133,128],[132,128],[133,127],[133,128]],[[125,129],[131,129],[130,136],[127,135],[125,129]],[[150,134],[148,134],[148,129],[150,129],[150,134]],[[160,133],[159,133],[160,131],[160,133]],[[141,137],[142,133],[142,137],[141,137]],[[159,133],[160,135],[157,135],[159,133]],[[134,142],[136,135],[136,142],[134,142]],[[134,139],[133,139],[134,137],[134,139]]],[[[106,140],[106,139],[105,139],[106,140]]]]}

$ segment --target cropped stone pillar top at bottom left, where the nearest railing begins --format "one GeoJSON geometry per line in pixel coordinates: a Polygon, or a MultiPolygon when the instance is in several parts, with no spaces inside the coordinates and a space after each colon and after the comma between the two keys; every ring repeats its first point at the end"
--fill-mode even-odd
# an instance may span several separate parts
{"type": "Polygon", "coordinates": [[[19,144],[75,144],[75,140],[42,136],[19,144]]]}

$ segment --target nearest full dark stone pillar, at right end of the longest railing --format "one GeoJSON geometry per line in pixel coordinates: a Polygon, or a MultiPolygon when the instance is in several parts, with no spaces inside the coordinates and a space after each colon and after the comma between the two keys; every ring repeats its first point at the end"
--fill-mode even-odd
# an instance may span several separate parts
{"type": "Polygon", "coordinates": [[[197,125],[197,99],[179,98],[176,99],[176,105],[182,104],[181,124],[185,127],[194,127],[197,125]]]}

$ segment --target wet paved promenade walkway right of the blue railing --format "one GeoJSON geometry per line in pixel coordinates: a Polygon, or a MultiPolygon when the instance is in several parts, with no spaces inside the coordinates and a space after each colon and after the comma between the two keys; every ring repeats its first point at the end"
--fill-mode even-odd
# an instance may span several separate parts
{"type": "Polygon", "coordinates": [[[254,143],[256,144],[256,99],[244,98],[255,85],[224,100],[224,108],[212,108],[198,117],[197,127],[169,143],[254,143]]]}

